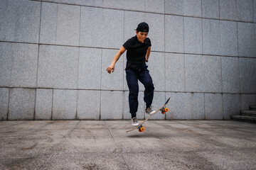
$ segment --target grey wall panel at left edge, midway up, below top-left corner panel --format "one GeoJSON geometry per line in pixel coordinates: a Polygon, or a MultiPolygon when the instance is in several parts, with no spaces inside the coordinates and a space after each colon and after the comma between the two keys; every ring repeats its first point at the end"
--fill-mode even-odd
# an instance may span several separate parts
{"type": "Polygon", "coordinates": [[[0,42],[0,86],[36,87],[38,45],[0,42]]]}

